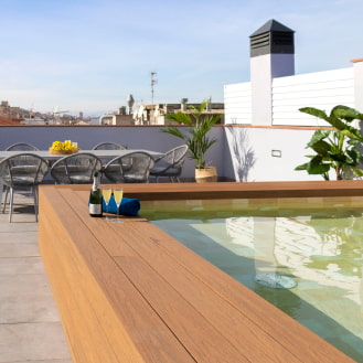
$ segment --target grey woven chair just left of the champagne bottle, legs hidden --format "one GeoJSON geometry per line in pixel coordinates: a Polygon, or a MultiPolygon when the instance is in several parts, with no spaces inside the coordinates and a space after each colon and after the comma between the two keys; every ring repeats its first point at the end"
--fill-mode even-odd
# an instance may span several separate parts
{"type": "Polygon", "coordinates": [[[54,162],[51,175],[56,184],[90,184],[102,161],[88,152],[74,153],[54,162]]]}

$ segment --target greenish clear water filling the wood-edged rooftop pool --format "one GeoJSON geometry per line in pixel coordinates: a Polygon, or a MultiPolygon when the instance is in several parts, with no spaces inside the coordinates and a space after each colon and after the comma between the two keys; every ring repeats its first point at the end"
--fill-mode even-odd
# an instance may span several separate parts
{"type": "Polygon", "coordinates": [[[158,201],[141,212],[363,362],[363,197],[158,201]]]}

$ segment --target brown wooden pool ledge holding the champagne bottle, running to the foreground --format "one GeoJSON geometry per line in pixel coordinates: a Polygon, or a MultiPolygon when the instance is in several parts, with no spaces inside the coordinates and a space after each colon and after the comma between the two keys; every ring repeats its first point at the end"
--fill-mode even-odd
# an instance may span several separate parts
{"type": "MultiPolygon", "coordinates": [[[[174,185],[124,190],[201,195],[174,185]]],[[[74,362],[353,362],[147,220],[89,217],[88,193],[40,188],[39,244],[74,362]]]]}

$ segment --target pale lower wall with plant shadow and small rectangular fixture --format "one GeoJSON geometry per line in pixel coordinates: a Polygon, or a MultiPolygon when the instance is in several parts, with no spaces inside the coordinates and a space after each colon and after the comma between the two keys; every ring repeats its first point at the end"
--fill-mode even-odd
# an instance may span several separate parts
{"type": "MultiPolygon", "coordinates": [[[[314,130],[226,127],[226,143],[236,181],[322,180],[295,168],[308,161],[306,145],[314,130]],[[280,157],[274,157],[280,154],[280,157]]],[[[226,177],[231,177],[227,174],[226,177]]]]}

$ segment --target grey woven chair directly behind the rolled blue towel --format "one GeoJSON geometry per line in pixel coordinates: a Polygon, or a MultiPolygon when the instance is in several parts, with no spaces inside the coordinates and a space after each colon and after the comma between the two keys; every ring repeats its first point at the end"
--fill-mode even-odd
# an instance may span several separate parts
{"type": "Polygon", "coordinates": [[[109,161],[104,174],[114,183],[147,183],[154,161],[147,152],[135,151],[109,161]]]}

